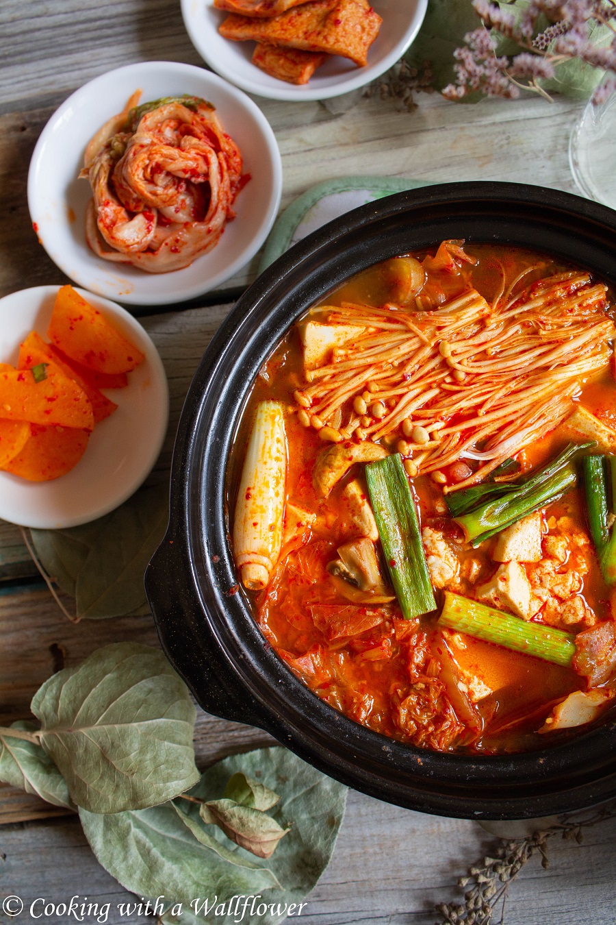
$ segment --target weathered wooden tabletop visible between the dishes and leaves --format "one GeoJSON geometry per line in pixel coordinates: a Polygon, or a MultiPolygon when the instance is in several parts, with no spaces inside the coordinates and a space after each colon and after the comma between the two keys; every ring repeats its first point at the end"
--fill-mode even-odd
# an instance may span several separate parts
{"type": "MultiPolygon", "coordinates": [[[[103,72],[140,60],[199,65],[178,0],[4,0],[0,5],[0,296],[66,279],[34,235],[26,202],[30,154],[54,109],[103,72]]],[[[575,191],[567,145],[580,105],[530,98],[453,105],[417,96],[413,112],[378,94],[338,114],[320,103],[256,99],[272,124],[284,167],[282,206],[313,184],[353,175],[436,181],[500,179],[575,191]]],[[[190,376],[237,292],[254,278],[258,258],[223,289],[188,306],[139,311],[161,351],[172,395],[172,420],[157,466],[170,462],[175,423],[190,376]]],[[[52,672],[78,663],[113,640],[156,645],[150,617],[74,625],[37,577],[17,527],[0,522],[0,724],[29,713],[36,688],[52,672]]],[[[199,764],[269,741],[248,726],[199,712],[199,764]]],[[[74,894],[111,902],[125,891],[99,867],[72,817],[0,786],[0,898],[18,894],[60,903],[74,894]],[[43,818],[46,817],[46,818],[43,818]],[[1,857],[1,856],[0,856],[1,857]]],[[[505,921],[527,925],[607,925],[614,920],[616,820],[586,832],[582,845],[552,840],[551,865],[537,858],[510,891],[505,921]]],[[[429,925],[436,903],[456,896],[456,878],[493,852],[494,836],[476,823],[424,816],[356,793],[330,868],[308,897],[306,925],[429,925]]],[[[30,920],[27,912],[22,919],[30,920]]],[[[61,922],[54,916],[45,922],[61,922]]],[[[0,912],[0,923],[8,921],[0,912]]]]}

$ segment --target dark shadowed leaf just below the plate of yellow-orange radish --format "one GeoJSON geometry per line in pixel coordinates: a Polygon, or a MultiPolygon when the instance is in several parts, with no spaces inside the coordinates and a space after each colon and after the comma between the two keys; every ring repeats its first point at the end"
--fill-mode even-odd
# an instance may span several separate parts
{"type": "Polygon", "coordinates": [[[115,511],[67,530],[31,530],[42,567],[76,598],[79,619],[150,612],[143,573],[163,539],[169,487],[141,488],[115,511]]]}

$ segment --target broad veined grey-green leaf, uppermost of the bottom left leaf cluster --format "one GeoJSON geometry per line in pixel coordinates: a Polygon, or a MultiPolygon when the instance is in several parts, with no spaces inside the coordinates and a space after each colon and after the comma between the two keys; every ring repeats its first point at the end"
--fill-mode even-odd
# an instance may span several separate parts
{"type": "Polygon", "coordinates": [[[115,643],[54,674],[31,703],[41,744],[79,807],[151,807],[196,781],[195,708],[163,652],[115,643]]]}

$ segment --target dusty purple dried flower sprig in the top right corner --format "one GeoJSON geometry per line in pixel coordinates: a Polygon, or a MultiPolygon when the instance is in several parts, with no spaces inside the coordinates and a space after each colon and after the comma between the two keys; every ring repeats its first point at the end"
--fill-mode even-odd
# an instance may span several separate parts
{"type": "Polygon", "coordinates": [[[465,45],[453,53],[456,81],[443,90],[448,99],[477,91],[510,99],[523,90],[548,96],[539,81],[552,79],[559,64],[575,59],[611,72],[595,93],[596,103],[616,90],[615,0],[531,0],[518,17],[489,0],[473,0],[473,7],[483,26],[467,32],[465,45]],[[613,33],[604,47],[593,41],[597,26],[613,33]],[[519,53],[499,56],[500,39],[516,43],[519,53]]]}

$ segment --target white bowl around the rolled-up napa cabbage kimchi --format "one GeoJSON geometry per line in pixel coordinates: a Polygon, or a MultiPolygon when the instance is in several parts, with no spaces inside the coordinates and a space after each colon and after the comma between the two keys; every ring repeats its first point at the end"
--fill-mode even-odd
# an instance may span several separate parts
{"type": "Polygon", "coordinates": [[[267,119],[244,93],[215,74],[172,61],[148,61],[109,71],[86,83],[56,110],[32,154],[30,217],[42,246],[67,277],[91,292],[131,305],[183,302],[215,289],[257,253],[280,204],[282,165],[267,119]],[[77,179],[94,132],[121,112],[135,90],[141,102],[189,93],[209,100],[239,146],[251,179],[234,204],[236,218],[209,253],[172,273],[144,273],[92,253],[85,237],[88,180],[77,179]]]}

